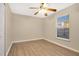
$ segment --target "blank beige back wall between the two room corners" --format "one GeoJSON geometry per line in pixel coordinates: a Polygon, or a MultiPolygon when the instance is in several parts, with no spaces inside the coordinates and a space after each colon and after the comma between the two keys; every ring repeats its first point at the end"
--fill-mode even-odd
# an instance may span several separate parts
{"type": "Polygon", "coordinates": [[[14,41],[43,38],[42,19],[14,14],[12,22],[14,41]]]}

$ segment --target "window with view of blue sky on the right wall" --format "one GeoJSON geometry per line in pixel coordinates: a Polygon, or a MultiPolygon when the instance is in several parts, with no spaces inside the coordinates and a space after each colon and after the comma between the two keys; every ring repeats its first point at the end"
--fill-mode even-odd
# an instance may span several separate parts
{"type": "Polygon", "coordinates": [[[68,40],[69,39],[69,15],[62,15],[57,17],[56,23],[57,38],[68,40]]]}

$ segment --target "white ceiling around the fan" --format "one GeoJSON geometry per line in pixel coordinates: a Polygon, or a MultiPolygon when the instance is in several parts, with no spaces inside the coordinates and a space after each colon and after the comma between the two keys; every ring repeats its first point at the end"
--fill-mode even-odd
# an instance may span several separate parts
{"type": "MultiPolygon", "coordinates": [[[[49,8],[55,8],[57,9],[57,12],[60,10],[63,10],[64,8],[67,8],[71,6],[73,3],[47,3],[47,6],[49,8]]],[[[34,15],[34,13],[38,9],[29,9],[29,7],[38,7],[40,6],[40,3],[10,3],[9,4],[11,11],[16,14],[21,15],[27,15],[27,16],[34,16],[34,17],[46,17],[44,16],[44,12],[40,12],[37,15],[34,15]]],[[[55,12],[48,12],[48,15],[54,14],[55,12]]]]}

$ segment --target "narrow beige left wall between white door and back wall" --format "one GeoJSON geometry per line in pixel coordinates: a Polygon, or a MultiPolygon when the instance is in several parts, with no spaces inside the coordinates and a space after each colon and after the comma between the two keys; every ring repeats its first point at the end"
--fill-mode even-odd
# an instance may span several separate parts
{"type": "Polygon", "coordinates": [[[12,43],[12,13],[8,6],[5,5],[5,53],[7,54],[12,43]]]}

